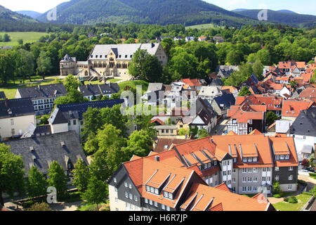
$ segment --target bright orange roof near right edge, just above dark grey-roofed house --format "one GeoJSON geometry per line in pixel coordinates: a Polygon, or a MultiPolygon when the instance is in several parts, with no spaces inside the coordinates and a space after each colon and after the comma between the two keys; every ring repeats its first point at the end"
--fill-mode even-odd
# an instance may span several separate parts
{"type": "Polygon", "coordinates": [[[282,117],[298,117],[301,110],[307,110],[313,104],[313,101],[292,101],[284,100],[282,104],[282,117]]]}

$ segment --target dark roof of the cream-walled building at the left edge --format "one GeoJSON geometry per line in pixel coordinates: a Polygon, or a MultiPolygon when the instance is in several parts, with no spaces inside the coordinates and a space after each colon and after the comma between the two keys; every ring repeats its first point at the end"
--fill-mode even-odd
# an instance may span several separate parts
{"type": "Polygon", "coordinates": [[[15,98],[0,101],[0,118],[32,114],[34,114],[34,106],[30,98],[15,98]]]}

